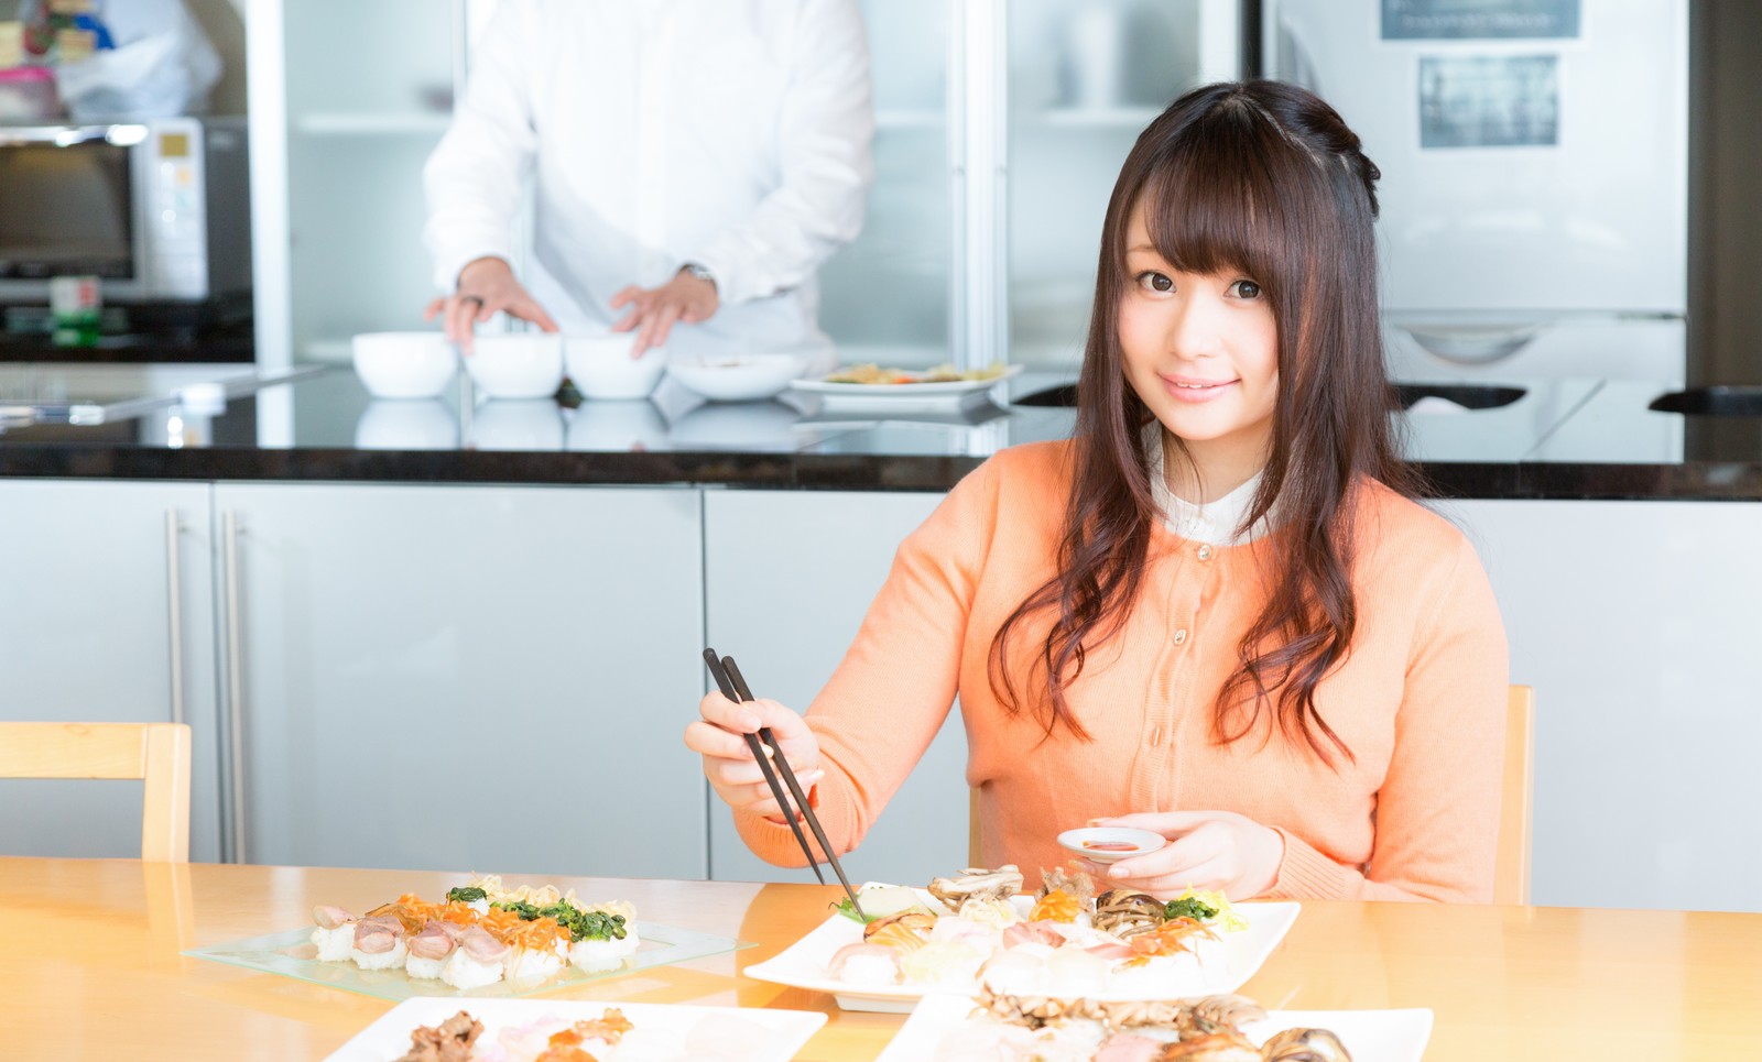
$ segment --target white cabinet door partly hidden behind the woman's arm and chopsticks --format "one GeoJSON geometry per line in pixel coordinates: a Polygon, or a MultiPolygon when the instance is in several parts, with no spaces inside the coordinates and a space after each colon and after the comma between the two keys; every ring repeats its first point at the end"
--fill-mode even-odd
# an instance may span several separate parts
{"type": "MultiPolygon", "coordinates": [[[[899,541],[941,500],[929,493],[705,491],[710,645],[740,662],[754,694],[805,710],[856,636],[899,541]]],[[[966,867],[966,766],[957,710],[862,847],[840,859],[853,884],[923,884],[966,867]]],[[[758,859],[735,833],[728,807],[712,798],[710,877],[812,881],[812,872],[758,859]]],[[[833,881],[830,872],[826,881],[833,881]]]]}

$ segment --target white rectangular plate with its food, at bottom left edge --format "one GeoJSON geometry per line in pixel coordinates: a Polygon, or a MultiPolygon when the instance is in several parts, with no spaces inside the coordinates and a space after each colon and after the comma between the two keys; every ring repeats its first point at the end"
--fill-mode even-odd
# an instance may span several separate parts
{"type": "Polygon", "coordinates": [[[786,1062],[825,1023],[825,1014],[756,1007],[407,999],[354,1034],[326,1062],[425,1057],[414,1051],[428,1043],[448,1043],[455,1051],[428,1057],[486,1062],[534,1062],[553,1046],[576,1048],[599,1062],[786,1062]]]}

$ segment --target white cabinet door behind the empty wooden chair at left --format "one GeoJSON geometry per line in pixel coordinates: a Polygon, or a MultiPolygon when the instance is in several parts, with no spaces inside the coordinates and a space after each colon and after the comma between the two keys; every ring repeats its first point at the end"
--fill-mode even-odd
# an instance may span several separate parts
{"type": "MultiPolygon", "coordinates": [[[[210,488],[0,483],[0,719],[194,731],[190,858],[218,858],[210,488]]],[[[141,854],[139,782],[0,780],[0,852],[141,854]]]]}

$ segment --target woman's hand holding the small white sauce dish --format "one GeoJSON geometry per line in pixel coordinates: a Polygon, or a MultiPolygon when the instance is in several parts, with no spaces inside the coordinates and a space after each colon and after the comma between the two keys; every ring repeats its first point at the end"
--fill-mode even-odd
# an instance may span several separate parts
{"type": "MultiPolygon", "coordinates": [[[[1173,900],[1188,888],[1221,889],[1247,900],[1272,888],[1284,859],[1284,838],[1235,812],[1145,812],[1094,819],[1091,826],[1126,826],[1161,833],[1168,844],[1144,856],[1087,870],[1107,888],[1173,900]]],[[[1085,861],[1087,863],[1087,861],[1085,861]]]]}

